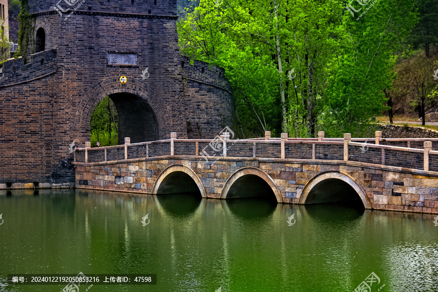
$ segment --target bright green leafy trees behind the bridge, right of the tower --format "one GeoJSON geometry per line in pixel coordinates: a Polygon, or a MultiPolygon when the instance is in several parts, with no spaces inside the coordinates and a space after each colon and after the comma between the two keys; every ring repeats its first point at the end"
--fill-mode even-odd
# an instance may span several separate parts
{"type": "Polygon", "coordinates": [[[200,0],[178,22],[181,52],[225,68],[246,137],[284,123],[291,136],[366,133],[417,15],[414,0],[378,1],[360,18],[344,6],[200,0]]]}

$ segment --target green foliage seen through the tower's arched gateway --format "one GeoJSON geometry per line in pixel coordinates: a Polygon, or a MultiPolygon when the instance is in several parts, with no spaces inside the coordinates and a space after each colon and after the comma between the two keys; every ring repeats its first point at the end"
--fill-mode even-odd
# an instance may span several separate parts
{"type": "Polygon", "coordinates": [[[117,145],[118,114],[110,97],[105,97],[94,109],[90,120],[91,147],[117,145]]]}

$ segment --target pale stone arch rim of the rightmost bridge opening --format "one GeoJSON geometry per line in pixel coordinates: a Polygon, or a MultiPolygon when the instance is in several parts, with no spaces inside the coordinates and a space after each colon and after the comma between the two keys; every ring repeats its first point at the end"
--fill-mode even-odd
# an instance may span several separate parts
{"type": "Polygon", "coordinates": [[[331,180],[341,180],[344,183],[347,183],[351,188],[354,189],[354,191],[359,195],[362,203],[364,204],[365,209],[371,209],[371,204],[369,203],[369,199],[366,196],[365,191],[362,189],[362,187],[359,185],[359,183],[356,182],[356,180],[342,172],[337,171],[327,171],[319,174],[318,176],[311,179],[303,189],[303,192],[300,196],[300,199],[298,201],[299,204],[306,204],[309,202],[306,202],[308,200],[309,194],[311,194],[312,190],[316,190],[318,188],[318,184],[321,185],[321,183],[328,182],[331,180]]]}

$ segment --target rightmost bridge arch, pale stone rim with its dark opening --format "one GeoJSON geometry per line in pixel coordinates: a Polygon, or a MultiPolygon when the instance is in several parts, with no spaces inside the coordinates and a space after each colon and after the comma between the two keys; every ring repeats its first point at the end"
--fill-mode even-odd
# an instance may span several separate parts
{"type": "Polygon", "coordinates": [[[323,173],[303,189],[299,203],[336,203],[357,209],[370,209],[365,191],[350,176],[339,172],[323,173]]]}

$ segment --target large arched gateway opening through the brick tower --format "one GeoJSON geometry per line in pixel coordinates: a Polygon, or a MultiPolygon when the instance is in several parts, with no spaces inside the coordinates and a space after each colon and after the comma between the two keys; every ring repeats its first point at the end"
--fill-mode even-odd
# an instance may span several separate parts
{"type": "Polygon", "coordinates": [[[111,146],[158,140],[155,113],[135,94],[113,93],[100,101],[90,120],[91,146],[111,146]],[[99,144],[97,144],[99,142],[99,144]]]}

